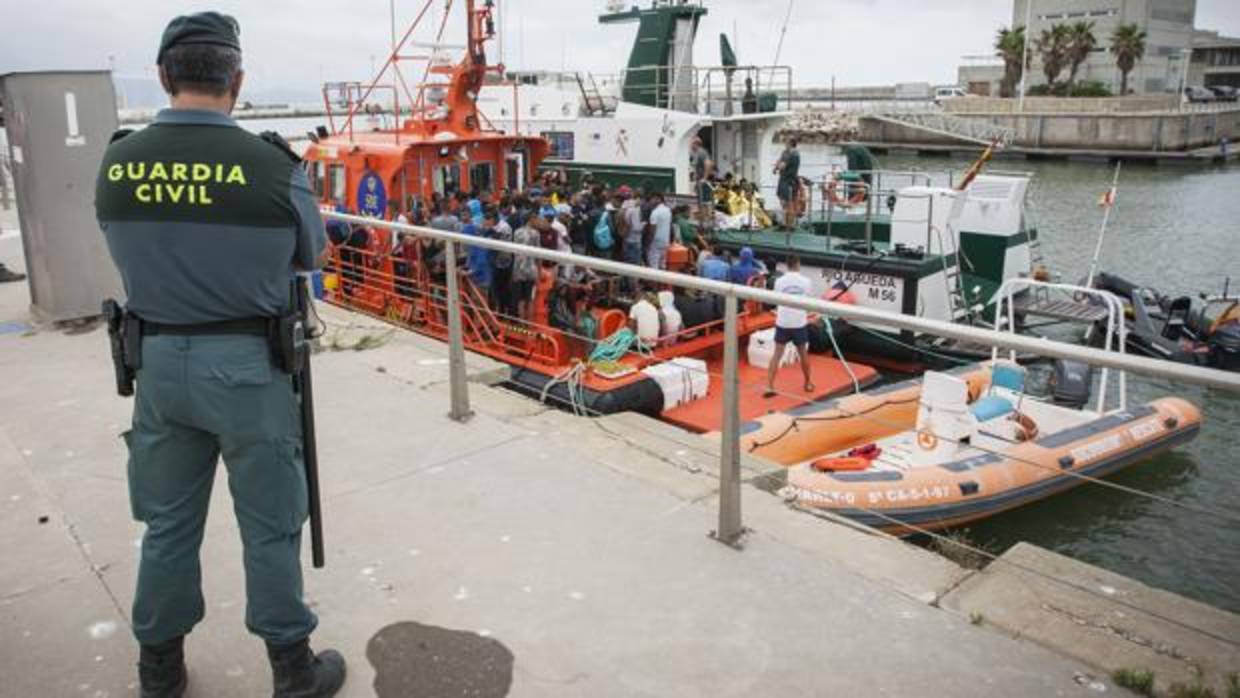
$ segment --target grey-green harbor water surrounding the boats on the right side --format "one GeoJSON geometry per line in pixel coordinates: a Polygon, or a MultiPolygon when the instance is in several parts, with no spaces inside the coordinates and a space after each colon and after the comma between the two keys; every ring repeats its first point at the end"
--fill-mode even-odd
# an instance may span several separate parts
{"type": "MultiPolygon", "coordinates": [[[[957,171],[957,159],[880,157],[884,169],[957,171]]],[[[1075,283],[1089,272],[1114,166],[998,161],[1034,174],[1030,196],[1052,272],[1075,283]]],[[[1240,167],[1125,165],[1101,269],[1163,293],[1221,293],[1240,284],[1240,167]]],[[[1097,564],[1171,591],[1240,612],[1240,527],[1200,511],[1240,515],[1240,395],[1130,377],[1128,403],[1180,395],[1202,408],[1200,435],[1111,480],[1187,505],[1085,485],[975,524],[968,537],[998,553],[1019,541],[1097,564]]]]}

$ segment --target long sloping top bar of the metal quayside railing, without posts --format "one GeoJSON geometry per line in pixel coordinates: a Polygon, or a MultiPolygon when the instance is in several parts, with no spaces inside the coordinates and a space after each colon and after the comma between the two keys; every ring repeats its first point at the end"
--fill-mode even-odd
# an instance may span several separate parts
{"type": "Polygon", "coordinates": [[[1183,381],[1184,383],[1194,386],[1204,386],[1223,391],[1240,392],[1240,374],[1229,373],[1215,368],[1203,368],[1198,366],[1172,363],[1142,356],[1115,353],[1092,347],[1069,345],[1066,342],[1059,342],[1047,337],[1032,337],[1025,335],[1017,335],[1013,332],[999,332],[991,329],[959,325],[954,322],[945,322],[942,320],[932,320],[928,317],[918,317],[911,315],[901,315],[898,312],[889,312],[885,310],[878,310],[858,305],[846,305],[828,300],[794,296],[789,294],[775,293],[766,289],[742,286],[724,281],[703,279],[699,276],[691,276],[687,274],[678,274],[675,272],[666,272],[663,269],[636,267],[632,264],[624,264],[621,262],[613,262],[610,259],[600,259],[596,257],[588,257],[584,254],[556,252],[551,249],[542,249],[517,243],[508,243],[508,242],[492,241],[480,237],[465,236],[461,233],[436,231],[434,228],[408,226],[403,223],[396,223],[392,221],[382,221],[378,218],[367,218],[362,216],[352,216],[347,213],[336,213],[330,211],[324,212],[324,217],[327,219],[341,221],[345,223],[352,223],[357,226],[389,228],[393,231],[412,233],[414,236],[424,238],[460,243],[464,245],[481,247],[486,249],[494,249],[497,252],[522,254],[526,257],[533,257],[536,259],[542,259],[546,262],[585,267],[589,269],[608,272],[622,276],[631,276],[645,281],[668,284],[683,289],[693,289],[706,293],[713,293],[722,295],[724,298],[756,301],[766,305],[781,305],[787,307],[796,307],[810,312],[826,314],[831,315],[832,317],[841,317],[843,320],[848,320],[852,322],[866,322],[866,324],[878,325],[882,327],[909,330],[913,332],[935,335],[962,342],[973,342],[986,346],[994,346],[1009,351],[1028,352],[1052,358],[1083,361],[1085,363],[1100,367],[1115,368],[1118,371],[1132,371],[1135,373],[1156,376],[1169,381],[1183,381]]]}

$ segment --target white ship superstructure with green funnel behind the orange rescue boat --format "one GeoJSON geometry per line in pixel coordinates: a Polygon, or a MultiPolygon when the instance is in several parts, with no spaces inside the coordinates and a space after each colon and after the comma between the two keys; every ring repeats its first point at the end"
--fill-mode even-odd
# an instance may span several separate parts
{"type": "Polygon", "coordinates": [[[603,25],[637,25],[622,72],[510,73],[510,84],[482,88],[479,108],[501,130],[547,139],[541,169],[560,170],[574,185],[589,172],[610,186],[688,196],[689,150],[701,138],[717,171],[774,192],[764,180],[782,150],[775,135],[791,117],[792,71],[737,64],[722,37],[720,64],[696,66],[706,14],[699,2],[611,2],[603,25]]]}

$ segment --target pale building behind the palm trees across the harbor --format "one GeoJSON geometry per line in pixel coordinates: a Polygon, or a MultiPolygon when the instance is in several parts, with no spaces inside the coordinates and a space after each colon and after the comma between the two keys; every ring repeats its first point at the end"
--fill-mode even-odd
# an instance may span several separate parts
{"type": "MultiPolygon", "coordinates": [[[[1047,82],[1035,48],[1042,31],[1060,24],[1092,22],[1097,47],[1081,64],[1076,79],[1101,82],[1118,94],[1121,76],[1110,51],[1111,33],[1120,25],[1137,25],[1146,32],[1146,52],[1128,74],[1128,91],[1161,94],[1178,92],[1180,84],[1194,84],[1185,69],[1193,50],[1195,17],[1197,0],[1013,0],[1008,26],[1024,26],[1027,20],[1029,24],[1033,64],[1025,78],[1028,88],[1047,82]]],[[[1066,78],[1066,72],[1065,68],[1060,79],[1066,78]]],[[[959,79],[971,94],[998,95],[1003,63],[993,57],[993,48],[987,47],[985,56],[965,57],[959,79]]]]}

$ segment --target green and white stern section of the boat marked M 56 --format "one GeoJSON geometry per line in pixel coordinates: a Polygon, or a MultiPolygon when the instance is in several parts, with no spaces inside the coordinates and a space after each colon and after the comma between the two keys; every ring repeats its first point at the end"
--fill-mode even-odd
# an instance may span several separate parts
{"type": "MultiPolygon", "coordinates": [[[[1030,175],[980,175],[960,190],[929,183],[936,177],[926,172],[854,174],[873,182],[864,203],[822,197],[792,232],[715,231],[714,242],[734,254],[749,247],[771,270],[796,254],[820,296],[847,291],[857,305],[951,322],[991,320],[1003,281],[1037,275],[1030,175]]],[[[913,372],[990,351],[877,326],[835,330],[846,353],[880,368],[913,372]]]]}

